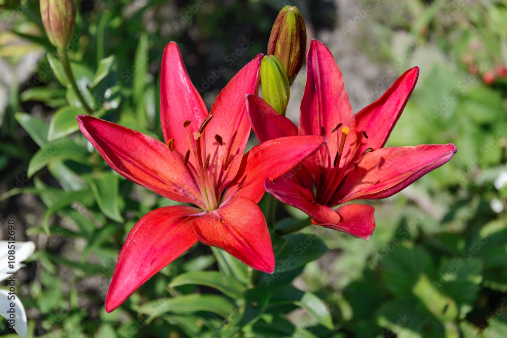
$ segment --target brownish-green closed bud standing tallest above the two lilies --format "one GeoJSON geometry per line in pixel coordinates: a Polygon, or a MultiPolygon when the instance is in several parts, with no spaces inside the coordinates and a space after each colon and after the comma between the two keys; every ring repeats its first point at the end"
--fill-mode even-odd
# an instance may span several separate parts
{"type": "Polygon", "coordinates": [[[281,61],[289,83],[294,81],[305,60],[306,26],[295,6],[285,6],[276,17],[268,42],[268,55],[281,61]]]}

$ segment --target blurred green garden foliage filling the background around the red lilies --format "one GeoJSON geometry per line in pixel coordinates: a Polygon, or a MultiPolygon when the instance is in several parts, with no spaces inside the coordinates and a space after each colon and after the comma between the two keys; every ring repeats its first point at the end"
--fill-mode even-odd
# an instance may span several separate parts
{"type": "MultiPolygon", "coordinates": [[[[44,34],[39,4],[0,3],[9,28],[0,56],[13,66],[27,55],[38,60],[33,76],[10,82],[0,130],[2,215],[19,219],[37,243],[21,289],[29,336],[507,336],[507,188],[495,187],[507,171],[505,1],[361,0],[359,20],[354,13],[343,22],[339,6],[297,4],[311,13],[305,20],[315,37],[343,34],[383,69],[364,88],[368,102],[421,65],[389,146],[452,142],[460,152],[404,193],[375,201],[368,242],[314,226],[282,236],[273,275],[196,244],[110,314],[103,301],[126,235],[144,214],[174,202],[116,174],[76,133],[84,110],[44,34]]],[[[68,50],[94,116],[159,139],[158,73],[168,41],[177,41],[209,107],[265,52],[285,5],[78,4],[68,50]]],[[[275,229],[301,217],[281,205],[277,216],[285,219],[275,229]]],[[[11,332],[4,321],[0,332],[11,332]]]]}

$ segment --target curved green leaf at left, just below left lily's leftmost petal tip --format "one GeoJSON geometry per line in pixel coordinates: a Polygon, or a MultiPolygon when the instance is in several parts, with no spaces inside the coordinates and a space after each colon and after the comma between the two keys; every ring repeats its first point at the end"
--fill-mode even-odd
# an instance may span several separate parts
{"type": "Polygon", "coordinates": [[[49,163],[70,159],[81,164],[87,164],[88,151],[85,148],[78,146],[74,141],[69,138],[62,138],[52,141],[39,149],[28,163],[28,177],[32,177],[43,167],[49,163]]]}

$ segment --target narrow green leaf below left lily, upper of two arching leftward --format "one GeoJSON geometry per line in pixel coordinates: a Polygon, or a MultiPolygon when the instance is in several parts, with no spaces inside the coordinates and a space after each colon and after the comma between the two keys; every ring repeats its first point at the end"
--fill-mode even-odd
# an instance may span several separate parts
{"type": "Polygon", "coordinates": [[[187,272],[176,276],[170,283],[170,287],[186,284],[198,284],[214,287],[233,299],[243,297],[246,287],[230,276],[218,271],[187,272]]]}

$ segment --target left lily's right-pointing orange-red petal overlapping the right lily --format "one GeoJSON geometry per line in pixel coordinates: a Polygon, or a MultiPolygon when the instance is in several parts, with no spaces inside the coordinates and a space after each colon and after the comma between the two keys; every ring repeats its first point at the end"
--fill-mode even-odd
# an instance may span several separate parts
{"type": "Polygon", "coordinates": [[[276,180],[324,143],[320,136],[289,136],[253,147],[243,156],[238,176],[227,187],[222,200],[228,202],[230,198],[242,196],[259,202],[266,179],[276,180]]]}

